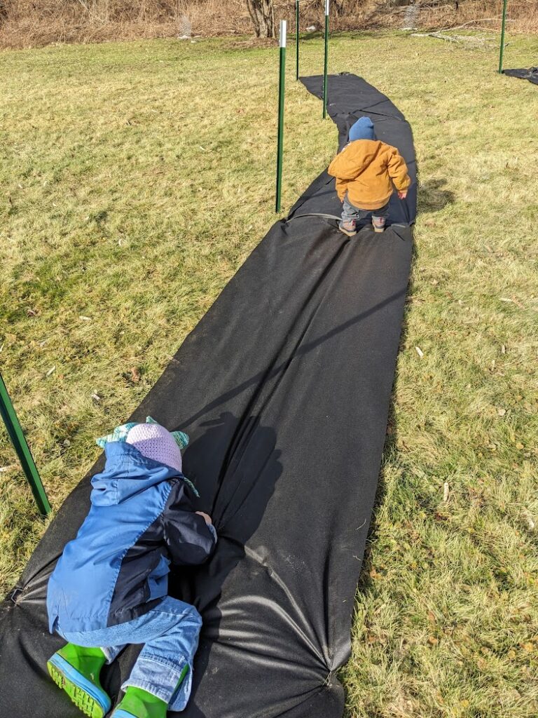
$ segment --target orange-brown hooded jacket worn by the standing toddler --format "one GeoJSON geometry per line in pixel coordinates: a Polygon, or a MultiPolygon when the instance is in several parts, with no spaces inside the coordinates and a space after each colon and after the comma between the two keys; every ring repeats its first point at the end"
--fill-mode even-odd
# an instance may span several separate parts
{"type": "Polygon", "coordinates": [[[390,200],[394,187],[403,192],[411,184],[405,159],[395,147],[379,140],[350,142],[329,164],[329,174],[336,177],[340,200],[347,192],[349,202],[359,210],[379,210],[390,200]]]}

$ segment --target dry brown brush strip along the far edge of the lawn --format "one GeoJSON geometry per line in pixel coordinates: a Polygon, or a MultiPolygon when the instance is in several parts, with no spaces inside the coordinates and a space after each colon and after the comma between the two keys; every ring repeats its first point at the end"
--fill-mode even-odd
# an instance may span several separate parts
{"type": "MultiPolygon", "coordinates": [[[[334,2],[331,29],[364,30],[401,27],[400,0],[346,0],[338,13],[334,2]]],[[[424,29],[472,23],[499,30],[501,0],[416,0],[424,29]],[[492,22],[491,19],[494,19],[492,22]]],[[[321,27],[324,4],[302,0],[301,27],[321,27]]],[[[276,19],[294,28],[294,0],[275,4],[276,19]]],[[[253,34],[245,0],[0,0],[0,49],[54,43],[103,42],[184,33],[187,18],[193,34],[204,37],[253,34]]],[[[511,32],[538,31],[538,0],[511,0],[511,32]]]]}

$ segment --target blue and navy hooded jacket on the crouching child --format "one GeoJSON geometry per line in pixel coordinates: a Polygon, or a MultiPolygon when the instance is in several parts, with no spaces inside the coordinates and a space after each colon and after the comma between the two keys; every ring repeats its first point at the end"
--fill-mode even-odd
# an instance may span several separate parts
{"type": "Polygon", "coordinates": [[[125,623],[168,593],[169,564],[202,564],[217,541],[194,513],[176,469],[126,442],[105,447],[91,508],[49,579],[49,630],[90,631],[125,623]]]}

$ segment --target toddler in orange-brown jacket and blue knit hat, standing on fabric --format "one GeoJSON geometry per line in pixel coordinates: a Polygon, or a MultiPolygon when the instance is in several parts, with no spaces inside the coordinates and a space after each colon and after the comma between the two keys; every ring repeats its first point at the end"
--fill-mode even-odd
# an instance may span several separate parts
{"type": "Polygon", "coordinates": [[[374,232],[382,232],[394,188],[404,200],[411,184],[405,160],[395,147],[375,139],[368,117],[351,127],[349,144],[329,164],[329,174],[336,177],[343,202],[339,229],[348,237],[357,234],[357,222],[370,214],[374,232]]]}

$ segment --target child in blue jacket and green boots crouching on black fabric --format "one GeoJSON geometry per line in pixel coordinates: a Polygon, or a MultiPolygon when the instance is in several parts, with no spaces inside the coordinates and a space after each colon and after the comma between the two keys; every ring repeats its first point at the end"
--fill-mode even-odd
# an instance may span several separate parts
{"type": "Polygon", "coordinates": [[[188,442],[151,417],[98,439],[105,470],[93,477],[90,512],[49,579],[49,630],[68,643],[47,668],[92,718],[110,710],[100,670],[129,643],[144,645],[113,717],[166,718],[168,707],[187,705],[202,619],[167,595],[169,564],[202,564],[217,543],[181,472],[188,442]]]}

